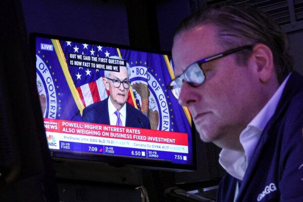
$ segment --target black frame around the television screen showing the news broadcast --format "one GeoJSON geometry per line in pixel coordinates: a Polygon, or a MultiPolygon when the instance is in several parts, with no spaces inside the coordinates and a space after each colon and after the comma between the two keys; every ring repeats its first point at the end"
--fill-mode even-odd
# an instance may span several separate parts
{"type": "MultiPolygon", "coordinates": [[[[151,50],[151,49],[143,49],[143,48],[133,48],[126,45],[120,45],[120,44],[113,44],[113,43],[107,43],[107,42],[98,42],[93,40],[84,40],[79,38],[71,38],[71,37],[65,37],[65,36],[58,36],[58,35],[51,35],[51,34],[42,34],[42,33],[30,33],[30,45],[31,45],[31,52],[32,52],[32,59],[33,61],[36,61],[35,55],[36,55],[36,44],[35,39],[36,37],[44,37],[44,38],[53,38],[53,39],[59,39],[59,40],[66,40],[66,41],[75,41],[80,43],[90,43],[90,44],[96,44],[96,45],[103,45],[103,46],[110,46],[110,47],[117,47],[122,49],[129,49],[131,51],[142,51],[142,52],[149,52],[149,53],[157,53],[162,55],[171,55],[170,52],[164,52],[159,50],[151,50]]],[[[36,68],[34,66],[34,68],[36,68]]],[[[182,165],[182,164],[173,164],[166,161],[159,161],[159,160],[146,160],[146,159],[135,159],[135,158],[121,158],[121,157],[108,157],[108,156],[99,156],[99,155],[77,155],[77,154],[67,154],[62,151],[50,151],[51,156],[53,157],[53,160],[56,162],[82,162],[85,163],[86,160],[89,161],[96,161],[96,162],[103,162],[106,164],[114,165],[114,166],[124,166],[124,165],[132,165],[132,166],[139,166],[142,168],[147,169],[153,169],[153,170],[169,170],[169,171],[193,171],[196,170],[196,140],[195,140],[195,126],[192,122],[192,158],[193,158],[193,164],[192,165],[182,165]]]]}

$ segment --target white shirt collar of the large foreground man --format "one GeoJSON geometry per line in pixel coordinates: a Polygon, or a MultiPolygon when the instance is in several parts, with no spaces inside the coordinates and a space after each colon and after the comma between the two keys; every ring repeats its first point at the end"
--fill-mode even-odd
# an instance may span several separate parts
{"type": "Polygon", "coordinates": [[[250,121],[239,136],[244,152],[223,148],[219,155],[219,163],[233,177],[242,180],[248,163],[254,154],[259,138],[266,124],[274,115],[281,98],[285,84],[290,74],[279,86],[274,95],[270,98],[257,116],[250,121]]]}

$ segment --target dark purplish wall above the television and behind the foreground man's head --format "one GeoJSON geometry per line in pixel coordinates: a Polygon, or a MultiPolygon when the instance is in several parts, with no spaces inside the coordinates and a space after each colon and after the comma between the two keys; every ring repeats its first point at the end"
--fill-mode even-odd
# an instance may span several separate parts
{"type": "Polygon", "coordinates": [[[27,33],[83,38],[171,51],[181,20],[216,4],[251,5],[271,15],[288,34],[295,69],[303,73],[302,0],[21,0],[27,33]]]}

